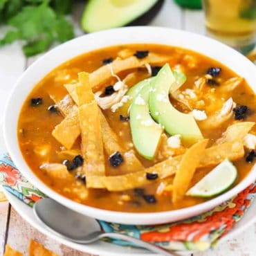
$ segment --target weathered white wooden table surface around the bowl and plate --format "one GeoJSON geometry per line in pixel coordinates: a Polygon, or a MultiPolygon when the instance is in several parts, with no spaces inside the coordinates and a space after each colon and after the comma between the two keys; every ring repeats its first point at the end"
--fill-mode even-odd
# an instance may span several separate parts
{"type": "MultiPolygon", "coordinates": [[[[74,13],[77,36],[82,35],[82,31],[78,26],[82,10],[83,3],[78,3],[77,6],[75,6],[74,13]]],[[[161,12],[158,13],[158,16],[152,21],[151,25],[179,28],[194,33],[205,34],[203,13],[201,11],[182,10],[176,6],[172,0],[165,0],[161,12]]],[[[4,31],[5,28],[0,28],[0,37],[3,36],[4,31]]],[[[17,80],[17,77],[19,77],[35,59],[36,57],[24,57],[21,53],[20,44],[18,43],[0,49],[0,127],[6,98],[8,98],[8,94],[12,90],[15,80],[17,80]]],[[[3,136],[0,130],[0,154],[4,151],[3,136]]],[[[3,255],[3,248],[6,243],[21,252],[26,252],[30,238],[36,239],[58,255],[89,256],[89,254],[80,253],[77,250],[67,248],[63,244],[59,244],[45,235],[42,235],[42,233],[38,232],[35,228],[26,223],[26,221],[21,219],[10,204],[7,202],[0,203],[0,255],[3,255]]],[[[194,253],[194,256],[255,256],[255,244],[256,224],[250,226],[245,232],[242,232],[225,244],[221,244],[214,251],[194,253]]]]}

